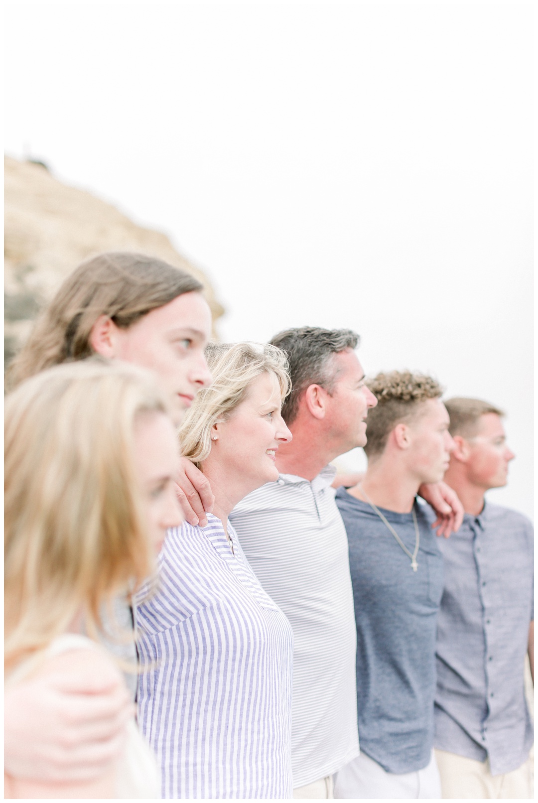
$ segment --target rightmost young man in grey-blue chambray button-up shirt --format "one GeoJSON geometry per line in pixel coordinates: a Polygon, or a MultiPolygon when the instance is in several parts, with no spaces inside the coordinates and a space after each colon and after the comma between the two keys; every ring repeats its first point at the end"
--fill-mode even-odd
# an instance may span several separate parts
{"type": "Polygon", "coordinates": [[[507,482],[502,412],[477,399],[446,402],[455,448],[445,481],[463,503],[459,532],[441,543],[436,756],[442,796],[530,798],[532,724],[524,696],[534,675],[533,532],[516,511],[484,503],[507,482]]]}

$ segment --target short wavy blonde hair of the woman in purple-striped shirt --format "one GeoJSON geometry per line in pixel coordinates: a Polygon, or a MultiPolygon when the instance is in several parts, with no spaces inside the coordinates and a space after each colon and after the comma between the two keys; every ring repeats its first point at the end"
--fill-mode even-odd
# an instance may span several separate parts
{"type": "Polygon", "coordinates": [[[206,361],[213,383],[194,397],[179,430],[181,454],[202,467],[211,451],[211,428],[225,421],[262,373],[275,377],[284,400],[291,390],[287,356],[282,349],[258,343],[210,343],[206,361]]]}

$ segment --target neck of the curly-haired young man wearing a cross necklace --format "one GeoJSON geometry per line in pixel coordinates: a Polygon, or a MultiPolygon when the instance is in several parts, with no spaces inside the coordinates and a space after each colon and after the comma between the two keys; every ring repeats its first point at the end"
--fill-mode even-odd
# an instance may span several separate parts
{"type": "Polygon", "coordinates": [[[420,480],[398,466],[397,461],[381,456],[373,463],[369,461],[361,483],[351,488],[349,493],[357,499],[385,507],[385,510],[410,513],[419,485],[420,480]]]}

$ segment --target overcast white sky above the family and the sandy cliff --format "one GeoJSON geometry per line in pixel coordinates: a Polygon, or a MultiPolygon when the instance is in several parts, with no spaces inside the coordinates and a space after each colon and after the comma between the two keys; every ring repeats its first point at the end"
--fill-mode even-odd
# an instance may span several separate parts
{"type": "Polygon", "coordinates": [[[532,516],[532,2],[5,10],[6,153],[169,234],[223,339],[354,328],[503,407],[532,516]]]}

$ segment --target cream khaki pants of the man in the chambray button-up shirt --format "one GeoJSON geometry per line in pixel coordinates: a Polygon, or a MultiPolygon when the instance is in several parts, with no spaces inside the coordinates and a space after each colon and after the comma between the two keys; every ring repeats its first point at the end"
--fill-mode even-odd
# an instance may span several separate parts
{"type": "Polygon", "coordinates": [[[436,750],[442,797],[456,800],[488,798],[528,800],[534,797],[532,759],[504,775],[491,775],[489,760],[476,761],[436,750]]]}

